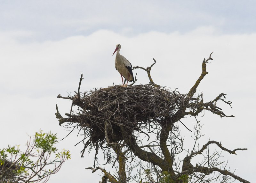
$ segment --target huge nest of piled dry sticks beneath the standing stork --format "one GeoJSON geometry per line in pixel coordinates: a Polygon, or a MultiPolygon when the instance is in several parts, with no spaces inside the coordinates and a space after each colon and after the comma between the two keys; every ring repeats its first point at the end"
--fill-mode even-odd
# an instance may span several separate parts
{"type": "Polygon", "coordinates": [[[85,92],[79,98],[69,96],[73,105],[79,106],[79,113],[66,115],[71,118],[68,121],[77,122],[84,130],[85,138],[89,137],[85,148],[106,142],[106,125],[110,142],[118,142],[122,140],[121,128],[130,135],[145,129],[146,133],[152,132],[164,125],[180,105],[189,105],[186,95],[151,84],[110,86],[85,92]]]}

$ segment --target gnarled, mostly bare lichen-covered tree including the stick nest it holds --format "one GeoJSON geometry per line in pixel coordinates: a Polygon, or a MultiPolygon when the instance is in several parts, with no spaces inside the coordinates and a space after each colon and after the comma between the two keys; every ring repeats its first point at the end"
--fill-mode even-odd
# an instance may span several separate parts
{"type": "Polygon", "coordinates": [[[228,150],[216,141],[209,141],[203,147],[196,148],[197,140],[201,136],[201,126],[197,120],[193,150],[188,152],[187,156],[177,159],[184,150],[178,126],[179,122],[183,124],[182,118],[196,117],[204,111],[210,111],[221,118],[235,117],[226,115],[217,106],[219,101],[231,106],[231,102],[226,100],[226,94],[221,93],[210,102],[203,100],[202,93],[194,96],[197,86],[208,74],[206,63],[212,60],[211,55],[212,53],[207,60],[204,59],[202,73],[187,94],[180,94],[176,90],[170,91],[167,87],[160,87],[153,82],[150,70],[156,63],[154,59],[154,63],[146,69],[133,67],[145,70],[150,84],[110,86],[82,93],[79,91],[82,75],[75,95],[58,95],[58,98],[72,101],[70,112],[65,114],[66,118],[61,116],[57,105],[55,114],[60,125],[65,123],[66,128],[78,128],[83,132],[84,139],[80,141],[84,143],[81,157],[85,151],[95,150],[94,165],[87,169],[92,169],[92,172],[100,170],[103,173],[103,183],[142,180],[159,182],[164,172],[167,172],[174,182],[181,182],[179,177],[187,175],[191,182],[213,182],[216,179],[218,182],[228,182],[234,178],[248,183],[227,170],[224,162],[218,161],[222,156],[220,152],[214,151],[211,154],[209,146],[215,144],[220,150],[231,154],[236,154],[237,150],[247,149],[228,150]],[[73,110],[73,106],[76,106],[77,110],[73,110]],[[112,168],[116,167],[116,174],[111,174],[98,164],[97,155],[100,151],[104,153],[106,164],[111,164],[112,168]],[[192,165],[191,159],[204,152],[204,161],[192,165]],[[219,174],[216,175],[216,172],[219,174]]]}

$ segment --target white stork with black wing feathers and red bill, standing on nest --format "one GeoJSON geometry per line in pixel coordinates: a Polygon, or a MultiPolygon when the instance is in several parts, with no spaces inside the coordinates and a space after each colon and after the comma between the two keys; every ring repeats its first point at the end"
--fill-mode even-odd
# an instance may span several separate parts
{"type": "Polygon", "coordinates": [[[116,70],[121,74],[123,85],[125,84],[123,77],[127,80],[127,83],[126,83],[126,86],[127,86],[128,81],[134,81],[134,77],[132,73],[132,64],[123,55],[120,55],[119,53],[120,49],[121,49],[121,45],[117,44],[116,49],[113,53],[113,55],[116,53],[115,67],[116,67],[116,70]]]}

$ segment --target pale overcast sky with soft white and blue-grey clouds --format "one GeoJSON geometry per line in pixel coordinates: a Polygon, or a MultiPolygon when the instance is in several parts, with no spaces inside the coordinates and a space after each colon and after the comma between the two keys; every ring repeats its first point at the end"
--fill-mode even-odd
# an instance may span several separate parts
{"type": "MultiPolygon", "coordinates": [[[[64,116],[70,101],[57,99],[77,91],[121,84],[112,56],[120,43],[121,55],[132,66],[152,68],[155,83],[187,93],[201,74],[201,64],[213,52],[208,75],[198,87],[210,101],[224,92],[230,108],[219,104],[227,115],[220,119],[206,113],[202,144],[209,138],[221,141],[237,155],[223,151],[231,171],[248,181],[255,167],[255,1],[1,1],[0,0],[0,149],[21,146],[28,135],[41,128],[68,134],[54,113],[58,104],[64,116]]],[[[142,70],[138,84],[147,84],[142,70]]],[[[186,119],[193,128],[194,119],[186,119]]],[[[186,129],[181,129],[184,134],[186,129]]],[[[189,139],[190,135],[185,135],[189,139]]],[[[100,172],[91,156],[80,157],[82,144],[76,132],[58,144],[72,158],[49,183],[97,182],[100,172]],[[69,171],[76,172],[71,174],[69,171]]],[[[185,144],[186,145],[186,144],[185,144]]],[[[211,148],[216,148],[212,146],[211,148]]],[[[111,170],[108,170],[111,171],[111,170]]],[[[238,182],[238,181],[235,181],[238,182]]]]}

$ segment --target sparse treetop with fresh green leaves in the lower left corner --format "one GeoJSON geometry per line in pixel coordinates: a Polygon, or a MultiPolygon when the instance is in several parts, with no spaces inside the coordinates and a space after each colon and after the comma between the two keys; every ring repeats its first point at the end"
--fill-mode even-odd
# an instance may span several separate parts
{"type": "Polygon", "coordinates": [[[46,182],[50,175],[58,172],[61,165],[70,159],[68,150],[58,151],[55,147],[57,134],[36,132],[27,142],[25,152],[19,145],[0,149],[0,182],[46,182]],[[55,153],[52,160],[51,154],[55,153]]]}

